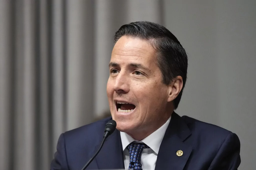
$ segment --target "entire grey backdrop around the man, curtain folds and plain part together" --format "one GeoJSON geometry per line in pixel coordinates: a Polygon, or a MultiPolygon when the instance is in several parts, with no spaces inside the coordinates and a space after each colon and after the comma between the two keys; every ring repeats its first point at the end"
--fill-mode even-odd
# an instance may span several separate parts
{"type": "Polygon", "coordinates": [[[177,113],[241,141],[255,169],[254,0],[0,0],[0,169],[48,169],[62,132],[108,112],[113,35],[125,23],[164,25],[188,53],[177,113]]]}

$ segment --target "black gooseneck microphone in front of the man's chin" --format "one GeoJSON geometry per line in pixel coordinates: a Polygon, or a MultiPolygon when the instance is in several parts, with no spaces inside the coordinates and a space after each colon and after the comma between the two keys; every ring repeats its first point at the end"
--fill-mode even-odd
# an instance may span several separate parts
{"type": "Polygon", "coordinates": [[[104,136],[103,136],[103,140],[101,142],[100,148],[98,149],[98,151],[92,156],[92,158],[87,162],[86,165],[84,165],[84,167],[82,168],[82,170],[85,170],[87,168],[87,166],[92,162],[92,160],[98,155],[98,153],[100,152],[103,143],[105,142],[106,138],[111,135],[114,131],[115,131],[115,127],[116,127],[116,122],[114,120],[110,120],[106,126],[105,126],[105,132],[104,132],[104,136]]]}

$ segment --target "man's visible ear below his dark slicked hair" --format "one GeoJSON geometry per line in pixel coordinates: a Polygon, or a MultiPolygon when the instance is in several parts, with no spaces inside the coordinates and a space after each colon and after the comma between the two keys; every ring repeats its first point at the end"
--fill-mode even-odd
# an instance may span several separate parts
{"type": "Polygon", "coordinates": [[[177,76],[169,85],[169,95],[167,102],[173,101],[180,93],[183,87],[183,79],[181,76],[177,76]]]}

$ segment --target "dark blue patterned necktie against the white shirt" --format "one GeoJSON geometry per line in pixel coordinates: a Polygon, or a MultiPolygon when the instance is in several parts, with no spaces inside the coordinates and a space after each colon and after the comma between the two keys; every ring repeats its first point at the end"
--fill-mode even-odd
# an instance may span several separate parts
{"type": "Polygon", "coordinates": [[[130,164],[128,169],[142,169],[141,165],[141,153],[143,149],[150,148],[145,143],[130,143],[128,145],[130,154],[130,164]]]}

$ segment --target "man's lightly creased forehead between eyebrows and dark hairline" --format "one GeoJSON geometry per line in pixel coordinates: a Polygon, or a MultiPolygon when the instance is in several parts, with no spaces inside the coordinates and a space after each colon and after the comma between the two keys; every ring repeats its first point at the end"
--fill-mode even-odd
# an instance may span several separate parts
{"type": "Polygon", "coordinates": [[[122,36],[112,50],[112,60],[136,60],[151,63],[156,61],[156,52],[146,40],[122,36]]]}

